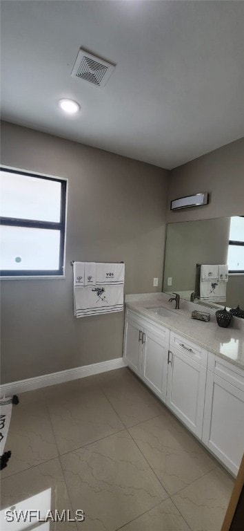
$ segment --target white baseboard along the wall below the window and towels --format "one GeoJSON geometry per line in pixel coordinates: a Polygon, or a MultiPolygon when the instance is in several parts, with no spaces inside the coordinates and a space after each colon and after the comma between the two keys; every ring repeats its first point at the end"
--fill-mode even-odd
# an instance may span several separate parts
{"type": "Polygon", "coordinates": [[[14,395],[24,393],[25,391],[33,391],[33,389],[40,389],[48,385],[62,384],[70,380],[77,380],[78,378],[85,378],[93,374],[105,373],[113,369],[121,369],[125,367],[123,357],[118,357],[116,360],[108,360],[108,362],[94,363],[92,365],[84,365],[83,367],[75,367],[67,371],[59,371],[58,373],[44,374],[36,376],[35,378],[27,378],[26,380],[19,380],[19,382],[10,382],[9,384],[1,385],[1,397],[3,395],[14,395]]]}

